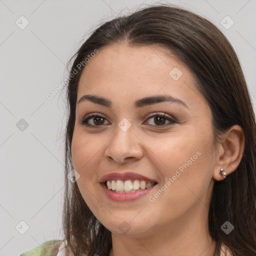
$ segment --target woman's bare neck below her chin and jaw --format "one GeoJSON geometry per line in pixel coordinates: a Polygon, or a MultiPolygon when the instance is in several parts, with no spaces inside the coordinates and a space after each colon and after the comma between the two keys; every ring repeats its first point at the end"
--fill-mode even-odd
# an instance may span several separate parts
{"type": "Polygon", "coordinates": [[[146,235],[112,233],[109,256],[213,256],[216,241],[209,235],[206,212],[204,218],[199,214],[193,216],[176,219],[169,225],[154,228],[153,232],[148,231],[146,235]]]}

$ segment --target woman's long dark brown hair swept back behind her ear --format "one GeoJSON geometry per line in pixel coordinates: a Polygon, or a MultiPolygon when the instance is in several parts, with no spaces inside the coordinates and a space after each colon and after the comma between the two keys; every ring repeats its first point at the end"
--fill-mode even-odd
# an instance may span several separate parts
{"type": "Polygon", "coordinates": [[[214,183],[208,213],[208,227],[220,244],[234,256],[256,255],[256,124],[252,103],[237,55],[222,32],[207,19],[170,4],[138,9],[100,25],[73,55],[66,88],[65,194],[63,232],[76,256],[107,255],[111,232],[93,215],[78,189],[70,182],[73,169],[71,141],[75,123],[77,87],[82,68],[79,63],[95,49],[126,41],[131,46],[157,44],[167,47],[192,72],[198,90],[212,112],[215,141],[221,132],[238,124],[245,134],[245,149],[237,169],[214,183]],[[80,66],[79,66],[80,67],[80,66]],[[74,69],[76,72],[74,72],[74,69]],[[74,74],[74,75],[71,75],[74,74]],[[229,221],[234,229],[225,234],[221,225],[229,221]]]}

